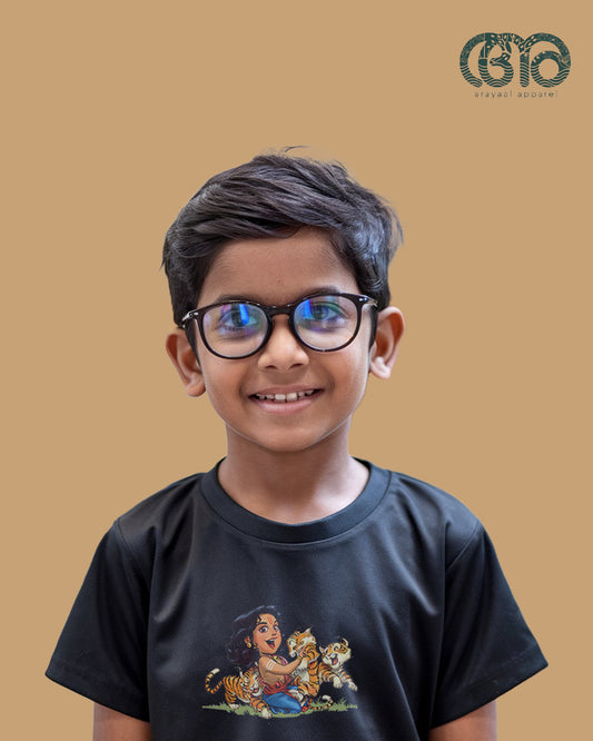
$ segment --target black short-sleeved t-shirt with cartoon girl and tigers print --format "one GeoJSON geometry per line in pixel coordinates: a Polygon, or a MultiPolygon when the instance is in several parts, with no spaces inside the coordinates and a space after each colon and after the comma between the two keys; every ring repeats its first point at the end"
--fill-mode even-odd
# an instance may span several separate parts
{"type": "Polygon", "coordinates": [[[247,512],[216,468],[138,504],[101,541],[48,676],[149,720],[155,741],[413,741],[543,669],[476,517],[369,468],[313,523],[247,512]],[[259,605],[281,640],[238,661],[227,649],[254,633],[234,621],[259,605]],[[266,682],[259,659],[291,662],[295,643],[305,671],[266,682]]]}

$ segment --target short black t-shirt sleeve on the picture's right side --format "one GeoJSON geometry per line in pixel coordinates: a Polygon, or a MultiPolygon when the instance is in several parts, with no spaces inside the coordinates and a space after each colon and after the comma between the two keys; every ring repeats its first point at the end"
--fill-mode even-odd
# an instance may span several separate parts
{"type": "Polygon", "coordinates": [[[433,727],[492,702],[547,665],[480,523],[448,565],[433,727]]]}

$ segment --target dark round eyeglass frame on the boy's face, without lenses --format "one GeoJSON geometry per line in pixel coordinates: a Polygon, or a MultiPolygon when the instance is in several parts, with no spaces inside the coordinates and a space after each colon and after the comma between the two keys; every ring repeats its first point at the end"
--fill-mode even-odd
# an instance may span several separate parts
{"type": "Polygon", "coordinates": [[[286,314],[288,316],[288,326],[290,328],[290,332],[293,333],[293,336],[297,339],[300,345],[304,347],[307,347],[308,349],[315,350],[316,353],[334,353],[338,349],[344,349],[344,347],[347,347],[356,336],[358,335],[358,330],[360,329],[360,324],[363,319],[363,308],[365,306],[370,306],[373,309],[375,309],[372,314],[373,317],[373,327],[372,327],[372,333],[370,333],[370,345],[375,342],[375,334],[377,330],[377,302],[374,298],[370,298],[370,296],[363,296],[359,294],[342,294],[342,293],[328,293],[328,292],[322,292],[317,294],[309,294],[307,296],[303,296],[303,298],[299,298],[296,302],[291,302],[290,304],[284,304],[283,306],[267,306],[266,304],[258,304],[257,302],[250,302],[250,300],[241,300],[241,299],[230,299],[227,302],[218,302],[216,304],[209,304],[208,306],[201,306],[200,308],[191,309],[191,312],[188,312],[181,322],[179,323],[179,326],[181,329],[185,329],[187,339],[191,347],[194,348],[194,352],[197,354],[197,347],[196,347],[196,338],[192,332],[192,319],[197,322],[198,329],[200,333],[201,340],[204,342],[204,345],[206,346],[206,349],[208,349],[213,355],[216,355],[217,357],[225,358],[226,360],[240,360],[246,357],[250,357],[251,355],[256,355],[259,353],[259,350],[265,347],[267,344],[268,339],[271,336],[271,333],[274,330],[274,317],[277,316],[278,314],[286,314]],[[295,326],[295,310],[297,306],[300,306],[304,302],[310,299],[310,298],[317,298],[318,296],[339,296],[340,298],[347,298],[349,299],[356,307],[356,327],[354,328],[354,332],[352,334],[352,337],[348,339],[348,342],[343,343],[342,345],[338,345],[338,347],[329,347],[329,348],[320,348],[320,347],[315,347],[313,345],[309,345],[306,343],[299,335],[298,332],[296,330],[295,326]],[[217,350],[213,349],[210,345],[208,344],[208,340],[206,339],[206,333],[204,332],[204,316],[207,312],[209,312],[213,308],[216,308],[218,306],[228,306],[233,304],[247,304],[248,306],[256,306],[257,308],[261,309],[261,312],[265,314],[268,326],[266,329],[266,334],[264,335],[261,343],[259,344],[256,349],[250,350],[249,353],[245,353],[244,355],[224,355],[223,353],[218,353],[217,350]]]}

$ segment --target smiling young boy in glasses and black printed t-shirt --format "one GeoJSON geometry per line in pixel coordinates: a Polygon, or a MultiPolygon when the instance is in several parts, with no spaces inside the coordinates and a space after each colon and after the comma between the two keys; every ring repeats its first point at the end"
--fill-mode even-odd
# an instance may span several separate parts
{"type": "Polygon", "coordinates": [[[170,227],[167,352],[228,448],[99,545],[48,669],[96,740],[491,741],[495,699],[546,665],[480,522],[348,454],[404,330],[398,239],[340,165],[286,154],[170,227]]]}

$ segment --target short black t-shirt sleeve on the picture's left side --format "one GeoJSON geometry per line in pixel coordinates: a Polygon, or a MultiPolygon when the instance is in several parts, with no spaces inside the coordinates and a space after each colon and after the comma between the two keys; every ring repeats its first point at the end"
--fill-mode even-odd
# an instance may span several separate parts
{"type": "Polygon", "coordinates": [[[148,589],[116,522],[105,535],[47,676],[95,702],[148,720],[148,589]]]}

